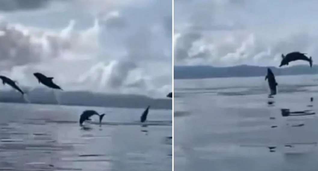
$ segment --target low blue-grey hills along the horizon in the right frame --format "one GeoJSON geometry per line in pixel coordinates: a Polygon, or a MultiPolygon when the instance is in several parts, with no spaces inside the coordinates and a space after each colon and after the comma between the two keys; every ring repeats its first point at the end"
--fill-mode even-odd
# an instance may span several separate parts
{"type": "MultiPolygon", "coordinates": [[[[306,75],[317,74],[318,65],[310,68],[308,65],[294,65],[277,68],[269,66],[277,75],[306,75]]],[[[175,66],[174,79],[204,79],[220,77],[257,77],[267,73],[267,66],[237,65],[230,67],[213,66],[175,66]]]]}

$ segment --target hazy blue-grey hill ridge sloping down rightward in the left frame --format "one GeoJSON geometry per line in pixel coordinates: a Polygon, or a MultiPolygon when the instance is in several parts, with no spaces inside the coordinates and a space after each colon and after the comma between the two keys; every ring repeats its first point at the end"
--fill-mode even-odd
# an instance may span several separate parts
{"type": "MultiPolygon", "coordinates": [[[[23,87],[24,90],[27,88],[23,87]]],[[[57,105],[55,95],[51,89],[29,89],[28,98],[32,104],[57,105]]],[[[151,105],[152,109],[172,109],[172,99],[162,95],[161,99],[153,99],[143,95],[134,94],[103,94],[87,91],[59,92],[59,105],[67,106],[99,106],[145,108],[151,105]]],[[[0,103],[27,103],[15,90],[0,90],[0,103]]]]}

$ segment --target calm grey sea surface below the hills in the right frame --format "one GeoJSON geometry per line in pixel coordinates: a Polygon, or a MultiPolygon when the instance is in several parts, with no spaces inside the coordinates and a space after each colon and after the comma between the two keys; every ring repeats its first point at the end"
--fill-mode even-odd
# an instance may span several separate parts
{"type": "Polygon", "coordinates": [[[273,99],[265,75],[175,80],[175,171],[317,170],[316,115],[282,117],[280,110],[317,111],[310,102],[317,78],[278,76],[273,99]]]}

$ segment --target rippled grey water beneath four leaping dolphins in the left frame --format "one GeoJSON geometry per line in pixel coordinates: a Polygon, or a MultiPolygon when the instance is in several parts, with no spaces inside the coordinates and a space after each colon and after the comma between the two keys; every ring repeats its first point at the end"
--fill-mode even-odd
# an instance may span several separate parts
{"type": "Polygon", "coordinates": [[[171,171],[171,110],[150,109],[141,127],[143,110],[0,104],[0,170],[171,171]],[[101,127],[80,129],[86,109],[106,113],[101,127]]]}

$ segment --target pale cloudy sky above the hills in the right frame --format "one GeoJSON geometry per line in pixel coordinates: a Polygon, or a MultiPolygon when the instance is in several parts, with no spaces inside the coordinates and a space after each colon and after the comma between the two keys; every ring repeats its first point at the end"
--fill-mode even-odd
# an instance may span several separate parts
{"type": "MultiPolygon", "coordinates": [[[[318,59],[315,0],[175,0],[175,65],[278,66],[281,54],[318,59]]],[[[307,64],[295,62],[294,64],[307,64]]]]}

